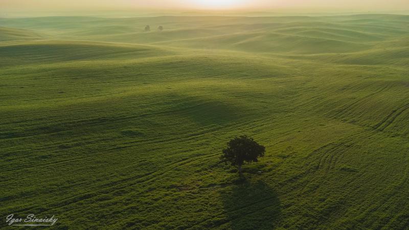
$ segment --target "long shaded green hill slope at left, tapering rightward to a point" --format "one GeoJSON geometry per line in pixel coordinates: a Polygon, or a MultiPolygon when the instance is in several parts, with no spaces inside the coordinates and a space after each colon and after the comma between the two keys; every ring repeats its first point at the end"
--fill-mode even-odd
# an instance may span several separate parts
{"type": "Polygon", "coordinates": [[[0,44],[0,66],[74,60],[149,58],[175,54],[172,49],[89,41],[41,40],[0,44]]]}

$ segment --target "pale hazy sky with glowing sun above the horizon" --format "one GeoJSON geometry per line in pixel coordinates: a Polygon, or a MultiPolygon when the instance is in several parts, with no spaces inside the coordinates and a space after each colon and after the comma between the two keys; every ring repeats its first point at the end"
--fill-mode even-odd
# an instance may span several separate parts
{"type": "Polygon", "coordinates": [[[173,10],[408,10],[409,0],[0,0],[3,11],[69,11],[101,9],[173,10]]]}

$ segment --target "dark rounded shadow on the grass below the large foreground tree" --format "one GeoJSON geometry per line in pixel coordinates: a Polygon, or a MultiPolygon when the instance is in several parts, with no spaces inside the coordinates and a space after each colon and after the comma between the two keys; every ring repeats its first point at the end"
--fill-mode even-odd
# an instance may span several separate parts
{"type": "Polygon", "coordinates": [[[263,181],[241,178],[231,190],[221,194],[226,217],[223,228],[274,229],[281,216],[280,200],[263,181]]]}

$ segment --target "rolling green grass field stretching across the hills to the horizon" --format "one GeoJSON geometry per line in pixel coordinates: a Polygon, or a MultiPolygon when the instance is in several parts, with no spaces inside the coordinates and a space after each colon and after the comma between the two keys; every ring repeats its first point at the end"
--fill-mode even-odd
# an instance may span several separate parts
{"type": "Polygon", "coordinates": [[[3,18],[0,77],[2,217],[409,229],[409,16],[3,18]]]}

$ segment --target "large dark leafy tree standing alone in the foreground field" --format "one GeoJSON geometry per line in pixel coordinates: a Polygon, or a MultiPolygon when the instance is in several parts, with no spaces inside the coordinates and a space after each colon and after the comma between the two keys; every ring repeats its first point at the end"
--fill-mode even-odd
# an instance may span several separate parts
{"type": "Polygon", "coordinates": [[[220,157],[222,162],[237,166],[241,175],[241,166],[246,163],[258,162],[259,156],[264,156],[265,147],[259,145],[247,136],[239,136],[227,143],[227,148],[223,149],[220,157]]]}

